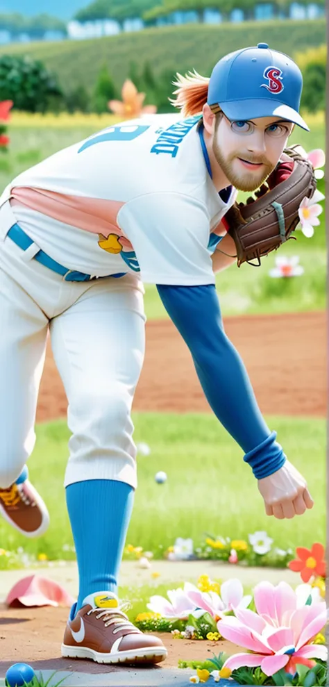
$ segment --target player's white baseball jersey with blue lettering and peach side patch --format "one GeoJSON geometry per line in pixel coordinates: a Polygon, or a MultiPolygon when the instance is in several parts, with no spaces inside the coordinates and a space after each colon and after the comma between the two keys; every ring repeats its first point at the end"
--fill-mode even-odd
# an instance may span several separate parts
{"type": "Polygon", "coordinates": [[[95,276],[214,283],[224,201],[207,169],[200,117],[146,115],[110,126],[19,174],[10,198],[22,229],[51,258],[95,276]]]}

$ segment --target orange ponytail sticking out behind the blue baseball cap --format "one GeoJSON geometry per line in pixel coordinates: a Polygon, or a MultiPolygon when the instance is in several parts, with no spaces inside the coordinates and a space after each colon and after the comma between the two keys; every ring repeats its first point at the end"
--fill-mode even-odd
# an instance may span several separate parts
{"type": "Polygon", "coordinates": [[[195,71],[182,76],[177,72],[177,81],[173,81],[177,89],[174,91],[176,99],[169,98],[171,105],[180,108],[183,117],[199,115],[208,98],[208,85],[210,79],[201,76],[195,71]]]}

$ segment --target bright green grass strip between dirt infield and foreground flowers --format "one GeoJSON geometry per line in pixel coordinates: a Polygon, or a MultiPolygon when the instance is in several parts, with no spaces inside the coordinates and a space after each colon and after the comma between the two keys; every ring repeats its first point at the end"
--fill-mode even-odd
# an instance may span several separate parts
{"type": "MultiPolygon", "coordinates": [[[[126,543],[153,551],[156,557],[160,545],[167,549],[180,536],[192,537],[196,546],[206,531],[245,539],[248,533],[264,529],[284,549],[325,541],[325,420],[267,418],[289,460],[307,479],[315,502],[303,518],[284,521],[265,515],[251,469],[216,417],[135,413],[133,420],[135,441],[146,442],[151,455],[137,457],[138,488],[126,543]],[[158,470],[167,472],[163,485],[155,483],[158,470]]],[[[28,465],[49,507],[51,526],[43,537],[27,540],[0,520],[4,549],[22,546],[26,552],[54,559],[65,557],[62,547],[72,545],[62,486],[68,439],[63,421],[37,427],[37,444],[28,465]]]]}

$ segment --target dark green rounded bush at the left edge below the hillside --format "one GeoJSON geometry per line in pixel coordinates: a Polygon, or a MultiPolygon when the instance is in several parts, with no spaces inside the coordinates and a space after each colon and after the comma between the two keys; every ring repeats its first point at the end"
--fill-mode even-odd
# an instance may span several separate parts
{"type": "Polygon", "coordinates": [[[0,56],[0,93],[2,100],[14,101],[14,108],[44,113],[62,99],[57,76],[40,60],[26,56],[0,56]]]}

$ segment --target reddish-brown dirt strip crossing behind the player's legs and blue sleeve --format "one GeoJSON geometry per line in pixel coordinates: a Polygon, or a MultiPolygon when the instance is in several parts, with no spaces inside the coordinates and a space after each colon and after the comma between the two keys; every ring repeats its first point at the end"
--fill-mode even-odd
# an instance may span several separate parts
{"type": "MultiPolygon", "coordinates": [[[[325,311],[227,317],[224,326],[244,360],[262,413],[326,416],[325,311]]],[[[133,409],[210,411],[189,350],[169,320],[146,324],[146,357],[133,409]]],[[[66,413],[49,344],[37,422],[66,413]]]]}

